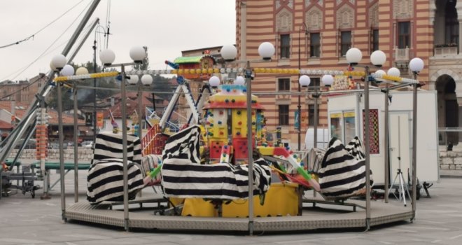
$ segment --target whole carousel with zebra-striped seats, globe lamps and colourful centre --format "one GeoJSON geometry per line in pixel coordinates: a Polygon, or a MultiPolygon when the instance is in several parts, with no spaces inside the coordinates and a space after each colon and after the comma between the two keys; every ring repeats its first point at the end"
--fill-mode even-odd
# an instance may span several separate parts
{"type": "MultiPolygon", "coordinates": [[[[352,48],[351,52],[346,53],[350,68],[356,66],[362,58],[361,52],[359,51],[358,54],[356,50],[352,48]]],[[[63,55],[53,58],[52,66],[55,71],[62,71],[66,65],[67,52],[69,52],[68,48],[64,50],[63,55]]],[[[111,50],[104,50],[100,54],[102,63],[105,66],[119,66],[120,71],[76,75],[73,75],[73,71],[72,73],[62,71],[62,76],[54,78],[59,115],[62,219],[115,225],[125,230],[131,228],[239,230],[247,231],[251,235],[254,231],[321,228],[365,228],[368,230],[372,225],[396,221],[412,222],[416,214],[415,147],[412,149],[412,209],[381,202],[371,204],[369,132],[365,130],[364,146],[358,138],[351,141],[352,147],[346,147],[346,142],[342,143],[332,139],[319,164],[322,169],[318,172],[314,169],[305,169],[300,156],[294,155],[290,148],[281,144],[280,140],[266,141],[264,107],[260,104],[259,98],[252,94],[251,81],[258,73],[302,75],[300,82],[304,80],[307,83],[309,83],[309,75],[363,78],[363,89],[358,86],[357,90],[333,92],[363,92],[365,128],[368,128],[369,123],[367,113],[369,113],[369,87],[372,81],[379,80],[391,85],[391,87],[387,85],[387,89],[411,85],[414,89],[413,118],[416,118],[416,91],[419,81],[390,76],[390,74],[371,73],[367,66],[365,71],[262,67],[252,69],[251,62],[264,63],[265,60],[271,59],[274,55],[274,46],[271,43],[262,43],[258,48],[258,53],[262,59],[236,61],[235,46],[226,45],[221,49],[221,57],[226,63],[234,64],[233,68],[181,69],[178,64],[167,62],[172,69],[125,71],[127,66],[132,66],[146,57],[145,50],[140,47],[132,49],[130,57],[135,63],[123,64],[112,64],[115,55],[111,50]],[[239,64],[245,64],[244,68],[240,68],[239,64]],[[220,79],[217,76],[228,73],[228,70],[242,76],[238,76],[234,84],[220,85],[220,79]],[[78,202],[76,197],[76,203],[66,207],[62,119],[60,118],[62,115],[61,87],[69,85],[78,90],[79,80],[117,76],[121,79],[122,117],[126,118],[127,85],[125,82],[127,78],[153,74],[177,76],[178,87],[162,118],[145,135],[139,130],[139,137],[127,134],[125,120],[121,125],[121,134],[113,132],[99,134],[94,144],[94,158],[88,172],[87,197],[90,202],[78,202]],[[183,78],[185,74],[211,76],[209,83],[202,87],[197,98],[193,97],[188,80],[183,78]],[[179,132],[167,134],[169,118],[181,94],[185,95],[186,103],[190,108],[190,120],[188,125],[184,125],[179,132]],[[105,176],[97,174],[99,169],[102,169],[102,172],[106,169],[116,170],[111,172],[111,176],[105,176]],[[332,175],[339,176],[339,173],[344,179],[332,180],[330,178],[332,175]],[[101,179],[100,182],[98,182],[99,179],[101,179]],[[141,188],[159,183],[162,185],[164,195],[158,194],[155,198],[149,197],[148,199],[135,198],[141,188]],[[175,186],[177,186],[176,189],[175,186]],[[306,198],[306,193],[304,193],[306,190],[321,193],[321,198],[316,200],[306,198]],[[105,193],[109,192],[111,195],[106,197],[105,193]],[[354,207],[352,212],[340,214],[335,211],[332,214],[328,212],[316,214],[316,211],[307,211],[304,210],[306,207],[303,207],[305,202],[323,203],[326,200],[330,204],[346,204],[344,202],[346,199],[358,195],[365,196],[365,200],[351,200],[349,205],[354,207]],[[324,200],[326,196],[330,198],[324,200]],[[157,210],[155,214],[164,215],[152,214],[152,208],[147,210],[151,212],[149,214],[134,212],[129,207],[132,203],[158,204],[155,206],[157,210]],[[160,205],[160,203],[166,205],[160,205]],[[123,204],[123,212],[118,208],[120,204],[123,204]],[[356,207],[362,207],[363,210],[356,211],[356,207]],[[176,214],[176,216],[166,217],[167,214],[176,214]]],[[[384,56],[385,54],[381,51],[372,53],[372,65],[384,64],[386,59],[384,56]]],[[[409,68],[416,76],[423,69],[423,61],[414,58],[409,68]]],[[[54,71],[50,72],[50,79],[53,75],[54,71]]],[[[300,83],[300,85],[306,84],[300,83]]],[[[47,90],[50,89],[52,89],[51,86],[47,88],[47,90]]],[[[317,93],[329,94],[330,92],[332,91],[317,93]]],[[[38,109],[38,103],[34,103],[34,106],[33,111],[38,109]]],[[[74,102],[74,111],[77,111],[76,107],[76,102],[74,102]]],[[[141,111],[139,115],[142,115],[141,111]]],[[[25,118],[25,123],[18,127],[17,136],[22,136],[25,131],[24,127],[31,125],[31,120],[31,117],[25,118]],[[29,124],[26,125],[27,123],[29,124]]],[[[413,123],[415,122],[416,120],[413,120],[413,123]]],[[[76,122],[74,128],[77,128],[76,122]]],[[[412,129],[412,137],[413,145],[416,145],[416,126],[412,129]]],[[[2,145],[1,161],[9,154],[9,141],[13,141],[13,138],[8,139],[8,146],[2,145]]],[[[315,142],[316,140],[314,139],[315,142]]],[[[75,146],[77,146],[76,141],[77,137],[74,139],[75,146]]],[[[74,159],[74,181],[76,181],[79,163],[77,158],[74,159]]],[[[41,160],[41,163],[43,163],[40,166],[41,169],[45,169],[44,160],[41,160]]],[[[386,187],[388,188],[388,185],[386,187]]],[[[74,194],[78,195],[77,187],[74,194]]]]}

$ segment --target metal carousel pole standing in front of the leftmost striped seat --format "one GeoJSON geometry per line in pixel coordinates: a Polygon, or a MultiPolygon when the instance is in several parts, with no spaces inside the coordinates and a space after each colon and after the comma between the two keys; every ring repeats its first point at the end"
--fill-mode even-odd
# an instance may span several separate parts
{"type": "Polygon", "coordinates": [[[122,97],[122,103],[120,104],[120,111],[122,112],[122,155],[123,155],[123,226],[126,231],[129,231],[128,223],[128,174],[127,174],[127,98],[125,92],[125,65],[120,65],[120,75],[122,76],[122,83],[120,83],[120,96],[122,97]]]}

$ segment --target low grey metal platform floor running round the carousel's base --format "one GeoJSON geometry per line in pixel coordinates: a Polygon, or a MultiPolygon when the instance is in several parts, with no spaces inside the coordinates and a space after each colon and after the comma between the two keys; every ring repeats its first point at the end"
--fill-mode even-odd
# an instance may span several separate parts
{"type": "MultiPolygon", "coordinates": [[[[310,200],[312,202],[313,200],[310,200]]],[[[358,207],[365,207],[365,201],[352,200],[358,207]]],[[[248,218],[222,217],[188,217],[188,216],[160,216],[154,215],[153,210],[134,209],[130,204],[129,228],[144,228],[158,230],[223,230],[248,231],[248,218]]],[[[334,205],[335,206],[335,205],[334,205]]],[[[410,205],[409,205],[410,206],[410,205]]],[[[396,203],[384,203],[383,200],[371,201],[370,226],[410,221],[412,208],[403,207],[396,203]]],[[[92,205],[88,202],[72,204],[65,211],[68,220],[85,221],[103,225],[113,225],[124,228],[123,206],[112,208],[111,204],[92,205]]],[[[302,216],[255,217],[253,230],[255,232],[281,232],[297,230],[317,230],[335,228],[365,228],[366,211],[358,208],[351,211],[351,207],[332,207],[316,204],[316,207],[303,207],[302,216]]]]}

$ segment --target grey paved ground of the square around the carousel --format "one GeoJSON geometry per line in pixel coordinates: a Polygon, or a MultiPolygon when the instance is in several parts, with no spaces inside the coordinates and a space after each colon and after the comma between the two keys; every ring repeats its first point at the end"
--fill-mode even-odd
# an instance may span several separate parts
{"type": "MultiPolygon", "coordinates": [[[[452,171],[451,171],[452,172],[452,171]]],[[[79,197],[85,201],[85,171],[79,171],[79,197]]],[[[414,223],[397,223],[362,230],[316,230],[283,234],[175,232],[137,230],[83,223],[63,223],[59,185],[50,200],[17,193],[0,200],[0,244],[461,244],[462,174],[442,176],[430,190],[431,198],[417,201],[414,223]]],[[[57,179],[58,174],[52,174],[57,179]]],[[[73,203],[73,172],[66,176],[66,204],[73,203]]],[[[41,181],[37,182],[42,184],[41,181]]],[[[145,190],[152,191],[152,190],[145,190]]],[[[377,200],[374,202],[382,202],[377,200]]],[[[391,198],[391,202],[398,202],[391,198]]]]}

